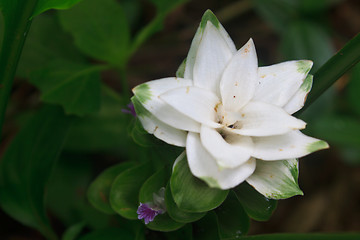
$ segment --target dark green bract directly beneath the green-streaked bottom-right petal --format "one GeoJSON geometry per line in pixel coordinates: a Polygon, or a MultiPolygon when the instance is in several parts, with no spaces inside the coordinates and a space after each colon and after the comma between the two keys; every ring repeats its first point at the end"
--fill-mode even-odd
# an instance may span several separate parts
{"type": "Polygon", "coordinates": [[[256,221],[268,221],[276,209],[277,201],[268,199],[244,182],[234,192],[247,215],[256,221]]]}

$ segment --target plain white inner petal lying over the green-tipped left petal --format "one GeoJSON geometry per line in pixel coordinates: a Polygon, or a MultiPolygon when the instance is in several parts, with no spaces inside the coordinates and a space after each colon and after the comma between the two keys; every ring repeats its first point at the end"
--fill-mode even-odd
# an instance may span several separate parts
{"type": "Polygon", "coordinates": [[[164,102],[180,113],[195,121],[212,127],[219,127],[216,123],[216,105],[218,97],[205,89],[198,87],[182,87],[170,90],[160,96],[164,102]]]}

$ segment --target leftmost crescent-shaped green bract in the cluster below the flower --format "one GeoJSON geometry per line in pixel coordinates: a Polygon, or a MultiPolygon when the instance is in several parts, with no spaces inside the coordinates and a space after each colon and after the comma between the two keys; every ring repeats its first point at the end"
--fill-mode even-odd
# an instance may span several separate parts
{"type": "Polygon", "coordinates": [[[133,162],[124,162],[103,171],[89,186],[87,191],[89,202],[101,212],[114,214],[115,211],[109,203],[111,185],[120,173],[133,166],[133,162]]]}

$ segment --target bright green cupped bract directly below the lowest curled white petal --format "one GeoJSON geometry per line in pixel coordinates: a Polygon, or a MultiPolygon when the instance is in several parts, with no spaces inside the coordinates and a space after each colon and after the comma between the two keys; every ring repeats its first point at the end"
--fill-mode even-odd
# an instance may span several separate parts
{"type": "Polygon", "coordinates": [[[206,183],[194,177],[187,164],[185,152],[174,164],[170,188],[177,206],[189,212],[210,211],[218,207],[229,192],[210,188],[206,183]]]}

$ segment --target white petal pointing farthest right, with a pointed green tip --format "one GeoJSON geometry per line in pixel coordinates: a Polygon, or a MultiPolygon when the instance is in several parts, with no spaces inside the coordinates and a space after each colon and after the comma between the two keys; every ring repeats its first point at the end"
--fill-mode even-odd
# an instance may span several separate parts
{"type": "Polygon", "coordinates": [[[300,131],[271,137],[253,137],[252,156],[262,160],[281,160],[299,158],[317,150],[328,148],[322,140],[308,137],[300,131]]]}

